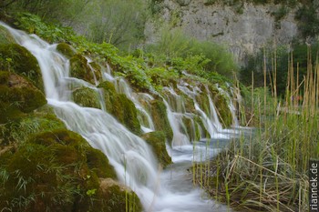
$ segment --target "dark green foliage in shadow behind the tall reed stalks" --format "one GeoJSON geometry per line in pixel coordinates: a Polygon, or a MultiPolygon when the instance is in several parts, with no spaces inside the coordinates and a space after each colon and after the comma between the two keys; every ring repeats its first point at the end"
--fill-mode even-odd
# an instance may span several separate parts
{"type": "MultiPolygon", "coordinates": [[[[246,86],[252,85],[252,73],[254,77],[254,86],[263,86],[263,60],[266,62],[266,77],[267,85],[271,85],[274,77],[274,59],[276,60],[276,89],[278,96],[285,95],[285,88],[287,86],[287,73],[288,69],[292,66],[290,61],[291,54],[293,54],[293,69],[295,70],[294,76],[296,77],[296,70],[298,66],[300,82],[303,80],[307,71],[307,52],[310,50],[312,56],[312,63],[314,66],[316,55],[319,50],[319,44],[314,43],[308,49],[305,44],[293,44],[291,52],[286,46],[278,46],[277,49],[265,49],[260,51],[255,56],[250,56],[248,65],[243,67],[240,71],[241,81],[246,86]]],[[[300,83],[299,82],[299,83],[300,83]]],[[[304,87],[301,87],[303,90],[304,87]]]]}

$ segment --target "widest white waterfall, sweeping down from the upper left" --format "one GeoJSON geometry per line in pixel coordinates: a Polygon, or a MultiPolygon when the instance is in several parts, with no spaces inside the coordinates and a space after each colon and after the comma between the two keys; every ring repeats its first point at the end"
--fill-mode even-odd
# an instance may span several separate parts
{"type": "Polygon", "coordinates": [[[38,61],[46,90],[46,99],[66,126],[85,137],[91,146],[108,156],[119,180],[131,187],[146,207],[150,207],[159,177],[157,162],[144,140],[130,133],[105,111],[77,106],[71,101],[67,85],[68,61],[36,35],[26,35],[5,26],[19,45],[28,49],[38,61]]]}

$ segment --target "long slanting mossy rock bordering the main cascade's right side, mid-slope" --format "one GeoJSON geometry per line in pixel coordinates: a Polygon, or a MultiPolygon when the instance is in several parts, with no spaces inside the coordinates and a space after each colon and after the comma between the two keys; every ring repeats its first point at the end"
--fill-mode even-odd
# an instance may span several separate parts
{"type": "Polygon", "coordinates": [[[115,87],[110,82],[103,82],[99,86],[104,91],[104,98],[108,113],[115,116],[120,123],[130,131],[139,135],[140,124],[138,111],[134,103],[124,94],[116,93],[115,87]]]}

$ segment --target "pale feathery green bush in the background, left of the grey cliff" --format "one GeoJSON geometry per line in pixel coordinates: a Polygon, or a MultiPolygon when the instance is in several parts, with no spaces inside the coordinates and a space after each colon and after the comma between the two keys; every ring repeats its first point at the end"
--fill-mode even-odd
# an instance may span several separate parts
{"type": "Polygon", "coordinates": [[[123,50],[135,48],[144,38],[147,13],[142,0],[98,1],[90,15],[87,36],[94,42],[107,42],[123,50]]]}

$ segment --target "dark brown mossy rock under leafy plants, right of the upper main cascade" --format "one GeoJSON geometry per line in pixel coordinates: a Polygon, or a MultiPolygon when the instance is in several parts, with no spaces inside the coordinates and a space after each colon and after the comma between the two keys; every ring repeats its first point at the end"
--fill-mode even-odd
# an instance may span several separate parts
{"type": "Polygon", "coordinates": [[[101,79],[101,73],[87,63],[87,59],[79,54],[70,59],[70,76],[83,79],[93,85],[101,79]]]}

